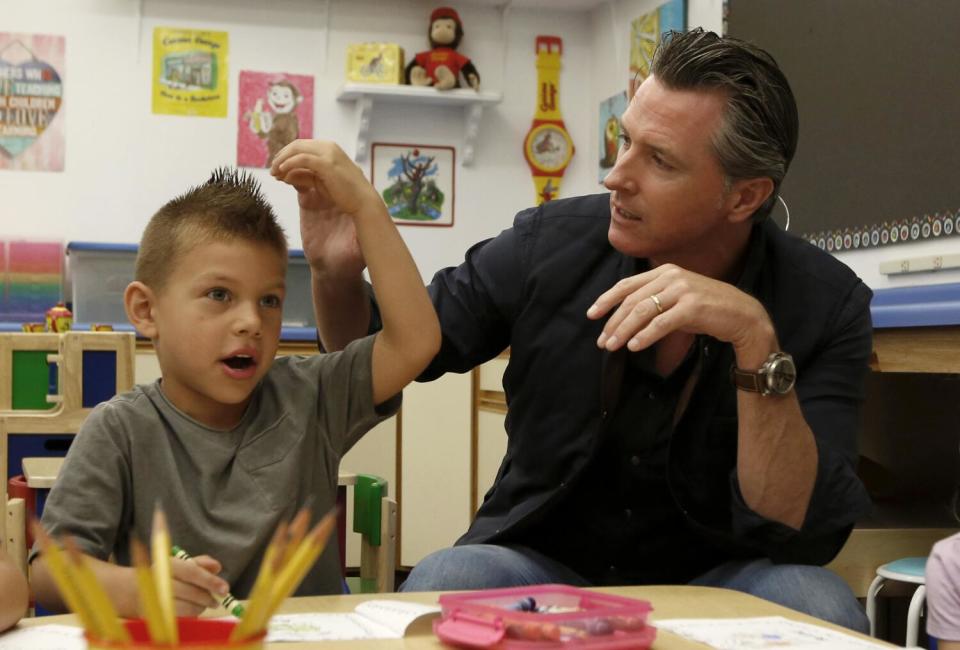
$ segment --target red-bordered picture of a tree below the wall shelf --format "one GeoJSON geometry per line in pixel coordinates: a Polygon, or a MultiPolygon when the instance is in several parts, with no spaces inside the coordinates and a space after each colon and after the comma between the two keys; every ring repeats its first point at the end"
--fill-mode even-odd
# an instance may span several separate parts
{"type": "Polygon", "coordinates": [[[453,147],[376,142],[370,161],[370,179],[394,223],[453,225],[453,147]]]}

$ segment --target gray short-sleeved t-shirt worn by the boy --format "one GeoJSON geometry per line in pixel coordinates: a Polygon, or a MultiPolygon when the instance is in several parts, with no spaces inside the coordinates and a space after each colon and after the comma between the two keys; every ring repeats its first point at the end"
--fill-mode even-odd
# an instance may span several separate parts
{"type": "MultiPolygon", "coordinates": [[[[129,565],[130,533],[149,541],[159,502],[171,541],[219,560],[233,594],[246,597],[277,525],[304,505],[314,523],[333,508],[341,457],[400,406],[397,395],[374,408],[373,340],[277,358],[230,431],[182,413],[159,380],[100,404],[70,447],[44,526],[129,565]]],[[[331,538],[297,594],[341,591],[331,538]]]]}

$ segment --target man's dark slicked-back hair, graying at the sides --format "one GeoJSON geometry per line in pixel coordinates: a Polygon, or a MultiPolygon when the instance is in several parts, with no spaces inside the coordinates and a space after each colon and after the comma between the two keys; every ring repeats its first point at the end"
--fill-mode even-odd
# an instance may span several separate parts
{"type": "Polygon", "coordinates": [[[667,88],[726,95],[713,149],[728,186],[747,178],[773,180],[773,193],[753,214],[754,221],[766,218],[797,151],[800,129],[797,102],[777,62],[751,43],[697,28],[665,34],[650,73],[667,88]]]}

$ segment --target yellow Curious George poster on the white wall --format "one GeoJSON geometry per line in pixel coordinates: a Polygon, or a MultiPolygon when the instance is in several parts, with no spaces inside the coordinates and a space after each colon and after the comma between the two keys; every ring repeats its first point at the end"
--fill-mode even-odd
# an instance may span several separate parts
{"type": "Polygon", "coordinates": [[[227,32],[153,30],[153,112],[227,116],[227,32]]]}

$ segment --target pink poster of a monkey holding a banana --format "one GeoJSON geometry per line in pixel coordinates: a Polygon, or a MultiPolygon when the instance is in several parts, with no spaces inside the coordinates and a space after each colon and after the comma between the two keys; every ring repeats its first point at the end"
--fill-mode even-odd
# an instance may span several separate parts
{"type": "Polygon", "coordinates": [[[269,167],[297,138],[313,137],[313,77],[240,72],[237,166],[269,167]]]}

